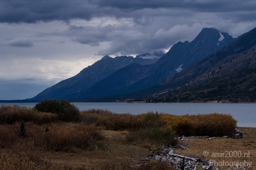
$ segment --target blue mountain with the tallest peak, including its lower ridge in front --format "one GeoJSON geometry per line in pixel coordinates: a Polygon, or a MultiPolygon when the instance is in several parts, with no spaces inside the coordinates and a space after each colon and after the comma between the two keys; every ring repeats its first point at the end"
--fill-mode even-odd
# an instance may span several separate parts
{"type": "Polygon", "coordinates": [[[225,47],[231,41],[233,38],[227,33],[221,33],[214,28],[203,28],[192,42],[178,42],[150,67],[128,66],[130,73],[127,69],[120,69],[95,83],[79,94],[78,101],[88,97],[128,94],[150,88],[205,58],[208,54],[225,47]],[[138,70],[140,71],[137,73],[138,70]],[[123,77],[126,79],[124,80],[123,77]]]}

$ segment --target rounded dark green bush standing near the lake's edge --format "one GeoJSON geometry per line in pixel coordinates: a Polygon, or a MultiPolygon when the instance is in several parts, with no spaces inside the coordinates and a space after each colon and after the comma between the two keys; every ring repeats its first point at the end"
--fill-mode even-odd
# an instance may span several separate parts
{"type": "Polygon", "coordinates": [[[44,100],[34,107],[40,112],[57,114],[57,118],[66,122],[79,122],[81,120],[79,109],[68,101],[44,100]]]}

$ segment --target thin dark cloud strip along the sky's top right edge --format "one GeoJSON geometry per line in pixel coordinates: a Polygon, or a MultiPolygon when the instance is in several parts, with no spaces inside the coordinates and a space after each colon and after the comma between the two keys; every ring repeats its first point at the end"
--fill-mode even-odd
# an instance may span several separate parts
{"type": "Polygon", "coordinates": [[[101,7],[115,7],[123,10],[144,8],[190,8],[201,12],[223,12],[255,10],[255,0],[92,0],[101,7]]]}

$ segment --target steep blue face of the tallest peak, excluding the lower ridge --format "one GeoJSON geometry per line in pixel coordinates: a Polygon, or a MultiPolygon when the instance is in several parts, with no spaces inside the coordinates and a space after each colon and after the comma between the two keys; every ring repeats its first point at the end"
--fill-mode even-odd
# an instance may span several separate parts
{"type": "Polygon", "coordinates": [[[192,42],[178,42],[154,65],[140,84],[152,87],[204,59],[233,41],[232,36],[214,28],[203,28],[192,42]]]}

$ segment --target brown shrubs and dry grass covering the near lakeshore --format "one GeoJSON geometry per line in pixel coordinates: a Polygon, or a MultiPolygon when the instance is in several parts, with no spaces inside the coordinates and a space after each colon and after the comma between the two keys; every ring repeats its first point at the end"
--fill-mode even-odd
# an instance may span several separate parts
{"type": "Polygon", "coordinates": [[[218,137],[234,133],[235,120],[229,115],[147,113],[133,116],[92,109],[80,112],[79,121],[63,120],[66,120],[63,116],[53,113],[1,106],[0,169],[169,170],[170,166],[158,162],[136,165],[143,164],[140,157],[151,156],[161,145],[177,143],[191,150],[175,148],[175,153],[215,162],[246,161],[256,167],[256,129],[241,128],[242,139],[218,137]],[[21,135],[21,122],[24,122],[25,135],[21,135]],[[178,142],[176,137],[181,135],[217,137],[178,142]],[[209,154],[204,156],[204,151],[209,154]],[[226,151],[228,157],[225,157],[226,151]]]}

